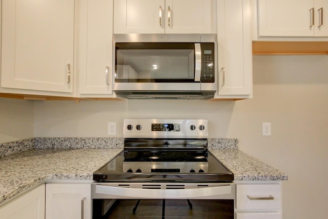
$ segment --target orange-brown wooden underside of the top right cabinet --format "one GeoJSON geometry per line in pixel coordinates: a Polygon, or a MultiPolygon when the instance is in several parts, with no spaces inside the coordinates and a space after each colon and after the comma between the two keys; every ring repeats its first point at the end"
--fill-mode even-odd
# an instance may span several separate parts
{"type": "Polygon", "coordinates": [[[328,42],[253,42],[253,55],[328,55],[328,42]]]}

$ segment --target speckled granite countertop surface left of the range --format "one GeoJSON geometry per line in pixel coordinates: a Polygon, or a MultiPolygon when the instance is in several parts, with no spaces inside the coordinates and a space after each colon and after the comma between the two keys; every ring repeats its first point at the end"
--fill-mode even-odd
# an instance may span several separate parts
{"type": "Polygon", "coordinates": [[[0,205],[47,180],[92,180],[122,149],[31,149],[0,159],[0,205]]]}

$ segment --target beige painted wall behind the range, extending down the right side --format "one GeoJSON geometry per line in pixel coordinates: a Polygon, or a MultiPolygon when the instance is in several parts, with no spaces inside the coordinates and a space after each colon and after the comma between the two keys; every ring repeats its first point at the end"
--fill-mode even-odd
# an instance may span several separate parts
{"type": "MultiPolygon", "coordinates": [[[[107,137],[107,122],[117,122],[121,137],[124,118],[207,118],[210,137],[239,138],[242,151],[289,175],[290,180],[283,183],[284,219],[325,218],[328,56],[253,58],[253,99],[35,102],[35,136],[107,137]],[[262,122],[272,123],[272,136],[261,135],[262,122]]],[[[6,106],[6,113],[0,112],[0,118],[12,129],[8,133],[2,125],[1,140],[23,138],[14,134],[16,128],[33,135],[32,104],[3,99],[0,104],[1,109],[4,104],[11,106],[6,106]]]]}

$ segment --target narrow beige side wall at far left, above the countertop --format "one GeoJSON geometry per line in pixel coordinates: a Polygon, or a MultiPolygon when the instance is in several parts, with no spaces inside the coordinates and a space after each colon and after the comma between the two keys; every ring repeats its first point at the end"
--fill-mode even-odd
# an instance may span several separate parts
{"type": "Polygon", "coordinates": [[[0,98],[0,143],[34,137],[34,103],[0,98]]]}

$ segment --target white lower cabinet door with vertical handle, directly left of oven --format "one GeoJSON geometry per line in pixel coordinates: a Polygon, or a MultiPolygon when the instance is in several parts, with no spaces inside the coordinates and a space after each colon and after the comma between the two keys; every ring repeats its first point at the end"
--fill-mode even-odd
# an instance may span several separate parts
{"type": "Polygon", "coordinates": [[[90,219],[90,184],[46,184],[46,219],[90,219]]]}

